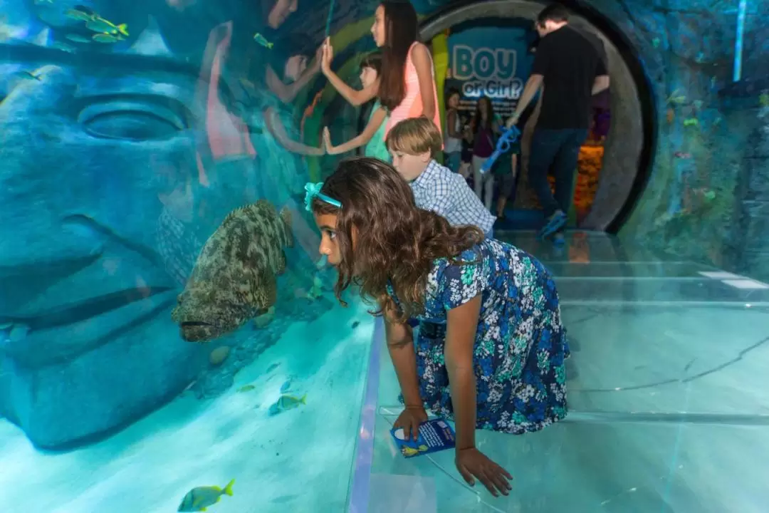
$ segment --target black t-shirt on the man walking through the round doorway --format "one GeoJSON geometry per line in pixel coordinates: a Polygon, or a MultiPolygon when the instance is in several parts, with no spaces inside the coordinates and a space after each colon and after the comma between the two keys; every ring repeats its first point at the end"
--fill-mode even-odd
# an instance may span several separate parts
{"type": "Polygon", "coordinates": [[[537,128],[589,128],[593,82],[607,75],[603,45],[568,25],[544,36],[532,75],[544,76],[537,128]]]}

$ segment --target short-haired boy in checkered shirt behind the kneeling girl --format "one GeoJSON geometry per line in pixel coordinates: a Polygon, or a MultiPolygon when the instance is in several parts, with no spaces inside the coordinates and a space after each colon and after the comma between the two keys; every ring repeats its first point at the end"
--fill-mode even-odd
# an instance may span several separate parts
{"type": "Polygon", "coordinates": [[[414,191],[419,208],[431,210],[454,226],[475,225],[494,238],[494,216],[484,208],[468,182],[435,161],[441,132],[428,118],[404,119],[387,136],[392,165],[414,191]]]}

